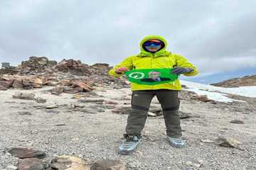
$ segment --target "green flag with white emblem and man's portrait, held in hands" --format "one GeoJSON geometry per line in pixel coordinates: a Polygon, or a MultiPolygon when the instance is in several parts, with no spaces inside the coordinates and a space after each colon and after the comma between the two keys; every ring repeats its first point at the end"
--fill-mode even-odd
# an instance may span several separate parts
{"type": "Polygon", "coordinates": [[[128,80],[136,84],[165,84],[178,79],[177,74],[171,74],[171,69],[132,69],[125,72],[128,80]]]}

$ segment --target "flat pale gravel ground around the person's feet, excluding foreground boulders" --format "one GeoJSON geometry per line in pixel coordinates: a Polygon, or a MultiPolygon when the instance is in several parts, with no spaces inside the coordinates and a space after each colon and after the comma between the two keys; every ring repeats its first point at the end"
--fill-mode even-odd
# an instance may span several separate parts
{"type": "Polygon", "coordinates": [[[255,98],[235,96],[247,102],[213,103],[189,99],[191,93],[181,92],[187,144],[183,149],[167,142],[154,98],[142,144],[136,153],[122,156],[117,148],[127,119],[121,113],[128,109],[129,89],[97,87],[94,92],[60,96],[50,94],[49,89],[1,91],[0,169],[17,166],[18,159],[7,152],[11,147],[45,152],[43,162],[48,169],[50,160],[58,155],[87,162],[121,160],[127,169],[256,169],[255,98]],[[20,99],[21,92],[30,100],[20,99]],[[221,145],[218,137],[228,139],[228,145],[221,145]]]}

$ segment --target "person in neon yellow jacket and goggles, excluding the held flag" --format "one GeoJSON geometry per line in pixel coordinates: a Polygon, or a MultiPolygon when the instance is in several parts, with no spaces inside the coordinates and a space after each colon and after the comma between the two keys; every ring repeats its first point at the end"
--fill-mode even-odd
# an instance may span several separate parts
{"type": "MultiPolygon", "coordinates": [[[[168,43],[159,35],[149,35],[140,42],[141,52],[138,55],[127,57],[110,70],[113,77],[120,77],[130,69],[166,69],[171,68],[171,74],[195,76],[198,74],[193,64],[181,55],[166,50],[168,43]]],[[[184,147],[181,140],[181,121],[178,114],[180,102],[178,91],[181,84],[178,79],[164,84],[135,84],[131,83],[132,111],[127,118],[124,142],[119,147],[120,154],[129,154],[135,151],[142,138],[142,130],[146,123],[147,112],[154,96],[159,100],[164,113],[166,135],[172,147],[184,147]]]]}

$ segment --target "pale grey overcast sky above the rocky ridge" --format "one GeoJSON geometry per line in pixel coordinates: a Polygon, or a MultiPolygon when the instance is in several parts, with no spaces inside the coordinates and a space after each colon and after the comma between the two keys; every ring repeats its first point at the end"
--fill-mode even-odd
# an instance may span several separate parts
{"type": "Polygon", "coordinates": [[[0,62],[117,64],[139,52],[145,35],[162,35],[201,76],[256,70],[255,8],[255,0],[1,0],[0,62]]]}

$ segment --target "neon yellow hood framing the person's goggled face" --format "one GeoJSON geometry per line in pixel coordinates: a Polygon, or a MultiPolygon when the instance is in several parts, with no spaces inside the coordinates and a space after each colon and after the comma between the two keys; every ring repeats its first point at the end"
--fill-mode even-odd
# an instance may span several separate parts
{"type": "Polygon", "coordinates": [[[145,38],[142,39],[142,41],[139,43],[139,47],[140,47],[140,50],[142,52],[139,53],[138,56],[140,57],[144,57],[144,56],[152,56],[153,54],[155,56],[161,56],[161,55],[165,55],[166,54],[166,47],[168,45],[168,42],[160,35],[148,35],[146,36],[145,38]],[[142,47],[142,45],[144,44],[144,42],[146,42],[147,40],[150,40],[150,39],[156,39],[156,40],[161,40],[162,42],[164,42],[164,47],[159,50],[158,52],[147,52],[146,50],[144,50],[144,48],[142,47]]]}

